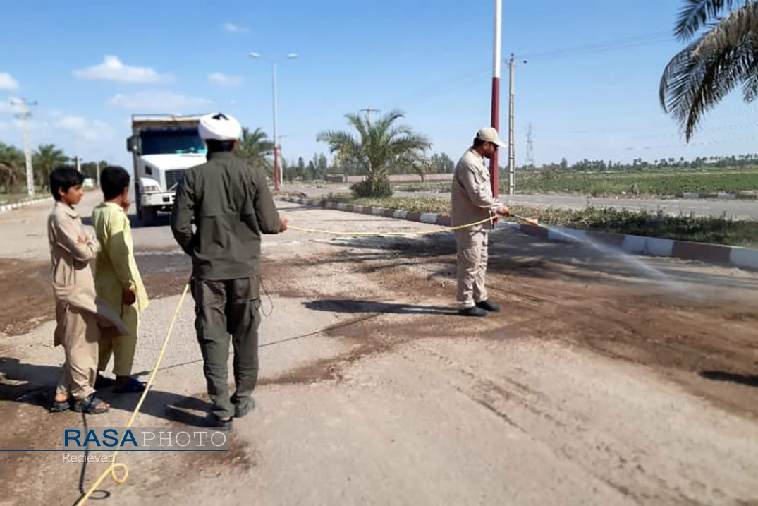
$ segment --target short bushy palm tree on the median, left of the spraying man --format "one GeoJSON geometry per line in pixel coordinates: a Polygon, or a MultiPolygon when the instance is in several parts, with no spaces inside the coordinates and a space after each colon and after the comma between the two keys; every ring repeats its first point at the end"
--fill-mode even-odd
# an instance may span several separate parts
{"type": "Polygon", "coordinates": [[[359,139],[346,131],[326,130],[316,140],[329,143],[330,152],[337,153],[340,160],[349,160],[362,168],[366,181],[360,191],[365,196],[381,196],[387,191],[391,194],[387,169],[420,160],[424,150],[431,146],[426,137],[415,134],[411,127],[393,126],[399,118],[405,118],[400,111],[390,111],[374,123],[355,114],[347,114],[345,118],[358,130],[359,139]]]}

